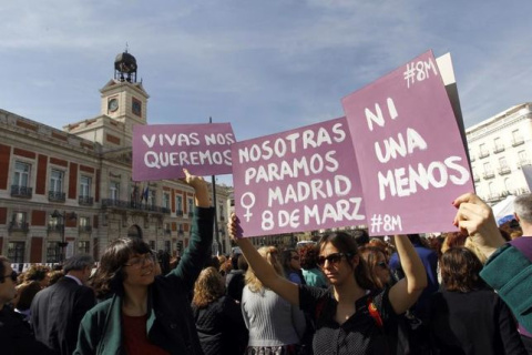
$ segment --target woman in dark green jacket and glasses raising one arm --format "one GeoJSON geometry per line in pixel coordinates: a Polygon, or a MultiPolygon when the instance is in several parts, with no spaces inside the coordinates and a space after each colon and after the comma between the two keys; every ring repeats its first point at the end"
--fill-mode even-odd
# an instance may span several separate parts
{"type": "Polygon", "coordinates": [[[150,245],[141,239],[113,241],[93,277],[108,300],[85,314],[74,354],[203,354],[188,297],[211,257],[214,209],[206,182],[184,172],[196,207],[178,266],[155,276],[150,245]]]}

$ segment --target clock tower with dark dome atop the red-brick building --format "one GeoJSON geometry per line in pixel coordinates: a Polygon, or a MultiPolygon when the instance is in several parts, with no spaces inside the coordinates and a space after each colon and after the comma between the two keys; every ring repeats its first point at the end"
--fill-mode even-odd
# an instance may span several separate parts
{"type": "Polygon", "coordinates": [[[134,124],[146,124],[146,104],[150,95],[136,81],[136,59],[127,50],[114,60],[114,79],[101,92],[101,113],[125,124],[131,134],[134,124]]]}

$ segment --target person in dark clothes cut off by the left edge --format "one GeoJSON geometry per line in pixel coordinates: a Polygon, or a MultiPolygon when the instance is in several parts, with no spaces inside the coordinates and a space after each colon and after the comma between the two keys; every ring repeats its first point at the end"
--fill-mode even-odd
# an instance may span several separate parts
{"type": "Polygon", "coordinates": [[[17,294],[17,272],[0,255],[0,353],[2,355],[55,354],[35,341],[24,322],[7,305],[17,294]]]}

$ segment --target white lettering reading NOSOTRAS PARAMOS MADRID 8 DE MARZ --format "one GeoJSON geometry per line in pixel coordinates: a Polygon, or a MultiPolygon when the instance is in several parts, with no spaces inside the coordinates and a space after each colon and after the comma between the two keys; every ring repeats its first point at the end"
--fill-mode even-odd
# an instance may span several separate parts
{"type": "Polygon", "coordinates": [[[338,144],[347,138],[345,123],[338,122],[239,148],[237,159],[245,166],[244,185],[264,184],[267,195],[267,205],[259,212],[254,210],[254,193],[248,191],[242,195],[246,222],[259,216],[260,229],[268,232],[364,221],[365,215],[359,213],[362,199],[349,197],[352,178],[338,173],[338,144]],[[283,181],[289,182],[276,184],[283,181]]]}

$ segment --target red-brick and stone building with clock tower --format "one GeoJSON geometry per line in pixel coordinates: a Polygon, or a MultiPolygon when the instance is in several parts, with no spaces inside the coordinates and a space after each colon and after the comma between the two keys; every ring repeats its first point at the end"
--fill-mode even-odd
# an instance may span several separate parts
{"type": "MultiPolygon", "coordinates": [[[[100,114],[63,130],[0,110],[0,254],[11,262],[58,263],[76,253],[98,260],[125,236],[173,255],[188,245],[193,189],[132,180],[132,129],[147,124],[150,98],[133,55],[116,57],[114,79],[100,92],[100,114]]],[[[231,191],[214,190],[213,250],[228,253],[231,191]]]]}

